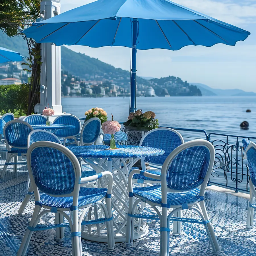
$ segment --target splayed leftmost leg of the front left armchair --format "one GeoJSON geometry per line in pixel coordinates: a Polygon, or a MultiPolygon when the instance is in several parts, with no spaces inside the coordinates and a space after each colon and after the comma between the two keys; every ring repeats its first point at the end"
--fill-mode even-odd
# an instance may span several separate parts
{"type": "MultiPolygon", "coordinates": [[[[40,210],[41,210],[41,207],[36,205],[35,209],[34,209],[34,212],[33,212],[33,215],[32,215],[32,218],[30,220],[29,226],[35,227],[37,225],[36,218],[37,218],[40,210]]],[[[26,233],[23,237],[22,243],[21,243],[20,248],[18,250],[17,256],[24,256],[26,254],[26,251],[28,249],[28,244],[30,242],[32,234],[33,234],[33,231],[31,231],[29,229],[26,230],[26,233]]]]}

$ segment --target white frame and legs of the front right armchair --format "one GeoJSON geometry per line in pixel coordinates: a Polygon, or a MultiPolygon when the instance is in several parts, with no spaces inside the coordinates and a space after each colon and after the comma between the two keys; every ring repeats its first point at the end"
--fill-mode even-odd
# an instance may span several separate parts
{"type": "MultiPolygon", "coordinates": [[[[170,166],[170,164],[172,163],[172,161],[174,160],[174,158],[183,150],[190,148],[190,147],[194,147],[194,146],[205,146],[208,148],[209,153],[210,153],[210,162],[208,165],[208,170],[207,173],[205,175],[204,181],[201,184],[201,188],[200,188],[200,193],[199,196],[203,197],[205,194],[205,188],[207,186],[208,180],[210,178],[210,174],[212,172],[212,168],[214,165],[214,159],[215,159],[215,150],[213,145],[206,140],[201,140],[201,139],[197,139],[197,140],[193,140],[193,141],[189,141],[186,143],[181,144],[180,146],[178,146],[176,149],[174,149],[170,155],[166,158],[163,167],[162,167],[162,171],[161,171],[161,175],[156,175],[156,174],[151,174],[148,172],[144,172],[143,175],[146,177],[150,177],[153,179],[160,179],[161,180],[161,188],[162,188],[162,204],[167,204],[167,193],[175,193],[175,192],[182,192],[180,190],[174,190],[174,189],[170,189],[167,187],[167,181],[166,181],[166,174],[168,171],[168,168],[170,166]]],[[[134,174],[139,174],[141,171],[140,170],[133,170],[129,177],[128,177],[128,188],[129,188],[129,193],[133,193],[133,175],[134,174]]],[[[185,191],[189,191],[189,190],[185,190],[185,191]]],[[[139,197],[138,197],[139,198],[139,197]]],[[[143,199],[145,200],[145,199],[143,199]]],[[[142,201],[142,198],[139,198],[138,200],[136,200],[134,202],[133,197],[129,197],[129,214],[135,214],[135,208],[137,207],[138,203],[140,203],[142,201]]],[[[150,201],[146,201],[147,204],[149,204],[151,207],[154,208],[154,210],[156,211],[156,213],[159,216],[160,219],[160,224],[162,228],[169,228],[169,222],[170,222],[170,218],[172,216],[174,217],[178,217],[179,216],[179,212],[182,210],[182,206],[181,205],[171,205],[170,208],[173,208],[173,210],[169,213],[169,215],[167,214],[167,208],[166,207],[162,207],[159,204],[154,204],[150,201]],[[156,208],[156,206],[158,207],[162,207],[162,214],[160,213],[160,211],[156,208]]],[[[206,207],[205,207],[205,202],[200,201],[199,203],[190,203],[187,204],[189,209],[193,209],[195,210],[202,218],[203,221],[205,220],[209,220],[207,211],[206,211],[206,207]]],[[[212,245],[212,253],[213,254],[219,254],[220,253],[220,246],[218,244],[218,240],[215,236],[213,227],[211,222],[207,223],[204,225],[205,229],[207,231],[210,243],[212,245]]],[[[126,230],[126,246],[131,246],[133,244],[133,230],[134,230],[134,218],[133,217],[129,217],[127,218],[127,230],[126,230]]],[[[174,234],[180,234],[181,233],[181,222],[180,221],[174,221],[174,234]]],[[[169,255],[169,236],[168,236],[168,232],[167,231],[162,231],[161,232],[161,243],[160,243],[160,256],[168,256],[169,255]]]]}

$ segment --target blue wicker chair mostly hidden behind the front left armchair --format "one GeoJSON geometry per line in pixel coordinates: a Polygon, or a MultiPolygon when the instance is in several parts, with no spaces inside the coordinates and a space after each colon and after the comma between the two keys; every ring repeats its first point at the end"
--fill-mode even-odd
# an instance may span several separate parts
{"type": "MultiPolygon", "coordinates": [[[[49,131],[45,131],[45,130],[34,130],[28,135],[28,139],[27,139],[28,148],[32,143],[37,142],[37,141],[51,141],[51,142],[55,142],[58,144],[62,144],[61,141],[59,140],[59,138],[55,134],[53,134],[49,131]]],[[[81,167],[82,167],[82,178],[89,177],[89,176],[96,174],[96,172],[89,165],[88,166],[81,165],[81,167]]],[[[28,193],[27,193],[26,197],[24,198],[24,200],[18,210],[19,214],[22,214],[24,212],[24,210],[28,204],[28,201],[31,198],[31,195],[33,195],[33,194],[34,194],[33,188],[30,185],[30,187],[28,189],[28,193]]]]}

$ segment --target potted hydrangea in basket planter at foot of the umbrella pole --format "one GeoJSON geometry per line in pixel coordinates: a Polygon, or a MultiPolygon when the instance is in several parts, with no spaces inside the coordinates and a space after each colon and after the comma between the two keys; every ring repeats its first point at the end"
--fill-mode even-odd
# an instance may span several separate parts
{"type": "Polygon", "coordinates": [[[128,144],[139,145],[142,135],[158,127],[158,119],[155,116],[154,112],[146,111],[143,113],[141,109],[135,113],[130,113],[127,121],[123,123],[128,135],[128,144]]]}

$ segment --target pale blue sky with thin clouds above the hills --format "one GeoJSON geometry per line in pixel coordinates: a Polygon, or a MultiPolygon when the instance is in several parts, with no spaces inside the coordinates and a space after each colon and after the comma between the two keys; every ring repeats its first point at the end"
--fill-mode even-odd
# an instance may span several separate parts
{"type": "MultiPolygon", "coordinates": [[[[61,0],[61,12],[93,0],[61,0]]],[[[150,49],[137,51],[137,75],[167,77],[212,88],[256,92],[256,0],[174,0],[174,2],[213,18],[243,28],[251,35],[236,46],[217,44],[210,48],[186,46],[179,51],[150,49]]],[[[98,58],[116,68],[130,69],[130,49],[68,46],[73,51],[98,58]]]]}

